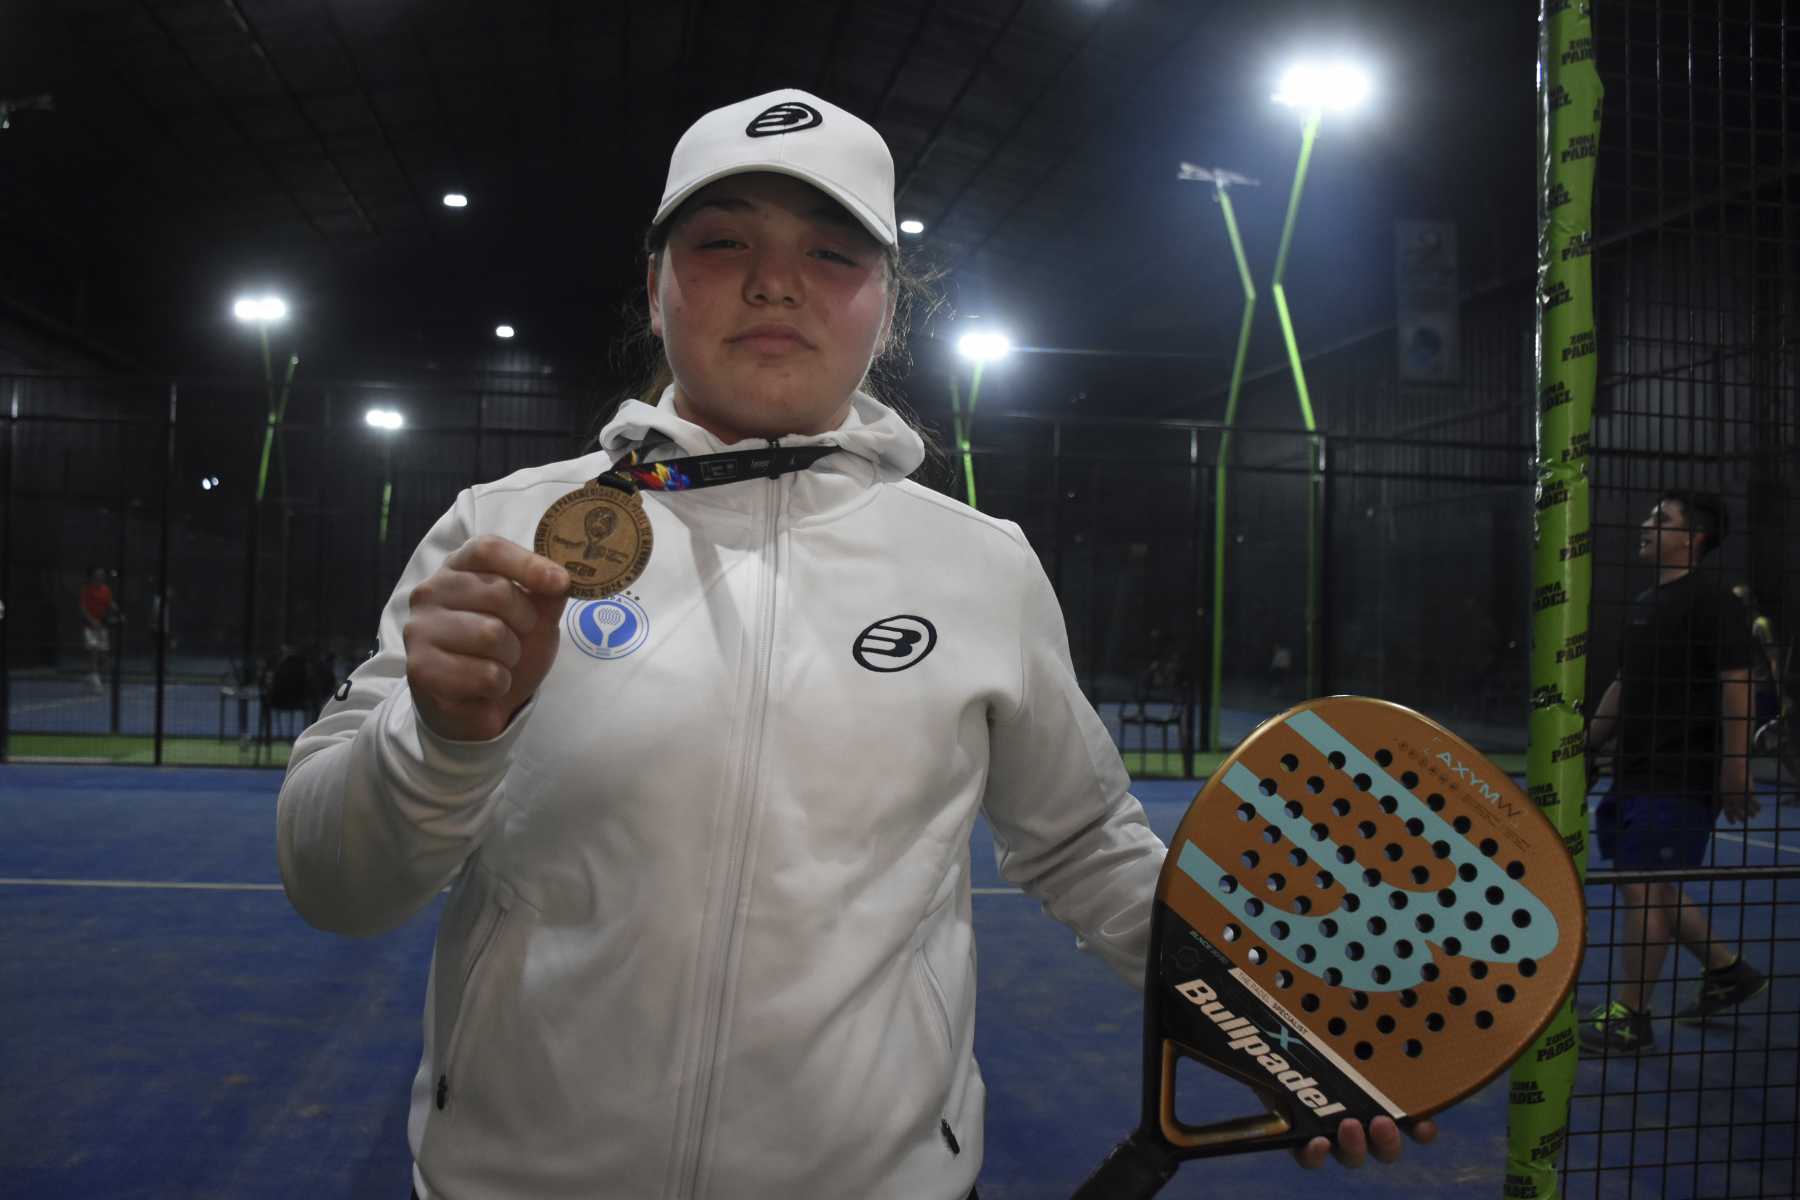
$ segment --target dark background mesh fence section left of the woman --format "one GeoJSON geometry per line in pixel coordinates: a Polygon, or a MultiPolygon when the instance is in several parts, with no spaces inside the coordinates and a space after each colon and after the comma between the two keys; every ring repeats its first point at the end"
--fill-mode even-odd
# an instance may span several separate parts
{"type": "Polygon", "coordinates": [[[531,380],[299,383],[274,428],[261,381],[0,396],[7,756],[232,765],[284,761],[461,488],[576,453],[598,405],[531,380]]]}

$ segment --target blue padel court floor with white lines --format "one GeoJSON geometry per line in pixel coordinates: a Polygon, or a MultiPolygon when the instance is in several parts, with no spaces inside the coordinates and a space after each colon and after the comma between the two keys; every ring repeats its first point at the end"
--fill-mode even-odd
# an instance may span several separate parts
{"type": "MultiPolygon", "coordinates": [[[[308,928],[275,869],[279,783],[266,770],[0,766],[0,1196],[407,1195],[437,905],[371,941],[308,928]]],[[[1165,838],[1193,792],[1136,788],[1165,838]]],[[[1796,808],[1768,801],[1750,829],[1726,829],[1721,862],[1800,862],[1796,808]]],[[[983,828],[972,851],[990,1088],[981,1195],[1069,1196],[1136,1124],[1139,1000],[997,878],[983,828]]],[[[1714,891],[1719,934],[1741,936],[1773,988],[1703,1029],[1656,1022],[1656,1052],[1582,1063],[1568,1196],[1796,1195],[1800,889],[1714,891]]],[[[1611,889],[1591,887],[1589,901],[1584,1006],[1606,991],[1611,889]]],[[[1678,970],[1685,993],[1694,968],[1678,970]]],[[[1669,1011],[1669,982],[1656,1007],[1669,1011]]],[[[1181,1094],[1190,1121],[1255,1108],[1197,1069],[1181,1094]]],[[[1503,1196],[1505,1076],[1440,1130],[1397,1168],[1307,1173],[1280,1153],[1240,1155],[1188,1164],[1161,1195],[1503,1196]]]]}

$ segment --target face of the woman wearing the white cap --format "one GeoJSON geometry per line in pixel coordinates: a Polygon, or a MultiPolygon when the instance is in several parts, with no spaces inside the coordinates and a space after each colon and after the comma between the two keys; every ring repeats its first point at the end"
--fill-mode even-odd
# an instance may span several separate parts
{"type": "Polygon", "coordinates": [[[650,327],[675,410],[724,443],[837,428],[887,326],[880,243],[787,175],[734,175],[671,218],[650,327]]]}

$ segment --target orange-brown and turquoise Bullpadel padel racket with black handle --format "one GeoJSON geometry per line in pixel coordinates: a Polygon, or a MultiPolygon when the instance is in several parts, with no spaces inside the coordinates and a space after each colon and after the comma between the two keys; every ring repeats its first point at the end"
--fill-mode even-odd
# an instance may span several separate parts
{"type": "Polygon", "coordinates": [[[1076,1200],[1152,1196],[1186,1159],[1429,1115],[1499,1074],[1575,982],[1586,912],[1555,828],[1442,725],[1312,700],[1193,799],[1156,883],[1143,1119],[1076,1200]],[[1184,1124],[1175,1065],[1267,1112],[1184,1124]]]}

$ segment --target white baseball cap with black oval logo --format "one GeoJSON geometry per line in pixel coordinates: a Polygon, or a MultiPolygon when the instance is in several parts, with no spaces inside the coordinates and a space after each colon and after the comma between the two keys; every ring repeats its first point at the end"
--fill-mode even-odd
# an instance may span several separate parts
{"type": "Polygon", "coordinates": [[[895,158],[869,122],[797,88],[706,113],[680,135],[655,225],[715,180],[792,175],[839,201],[884,246],[895,245],[895,158]]]}

